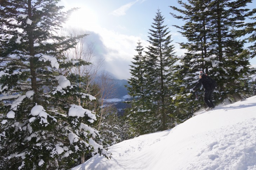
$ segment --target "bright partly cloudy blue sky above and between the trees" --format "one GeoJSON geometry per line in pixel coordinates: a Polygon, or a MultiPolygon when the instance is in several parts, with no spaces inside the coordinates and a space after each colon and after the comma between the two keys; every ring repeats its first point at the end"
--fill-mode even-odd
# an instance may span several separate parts
{"type": "MultiPolygon", "coordinates": [[[[164,24],[172,35],[176,55],[184,53],[176,42],[186,39],[172,26],[183,23],[169,14],[172,12],[169,6],[178,6],[176,0],[62,0],[60,5],[65,9],[80,7],[70,16],[67,25],[88,31],[87,38],[95,45],[96,57],[105,59],[104,69],[117,79],[130,77],[129,65],[136,55],[138,40],[144,47],[148,46],[148,32],[157,9],[165,17],[164,24]]],[[[256,8],[256,3],[249,8],[256,8]]],[[[252,64],[256,64],[256,59],[252,64]]]]}

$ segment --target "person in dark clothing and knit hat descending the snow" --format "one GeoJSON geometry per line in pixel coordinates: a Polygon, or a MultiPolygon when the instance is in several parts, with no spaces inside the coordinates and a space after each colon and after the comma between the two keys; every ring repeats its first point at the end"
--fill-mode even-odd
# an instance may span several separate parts
{"type": "Polygon", "coordinates": [[[200,71],[199,80],[196,83],[196,86],[193,89],[190,89],[190,92],[191,91],[194,92],[198,87],[201,87],[202,84],[204,88],[203,99],[206,105],[208,106],[206,111],[214,109],[215,105],[213,103],[212,95],[213,95],[213,90],[215,90],[216,88],[216,82],[215,80],[211,79],[211,77],[209,77],[207,74],[204,74],[202,71],[200,71]]]}

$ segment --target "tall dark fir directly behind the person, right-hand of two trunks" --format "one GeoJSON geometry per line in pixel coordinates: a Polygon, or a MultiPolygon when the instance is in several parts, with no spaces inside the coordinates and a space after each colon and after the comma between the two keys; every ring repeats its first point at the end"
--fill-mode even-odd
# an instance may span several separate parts
{"type": "MultiPolygon", "coordinates": [[[[247,94],[248,89],[246,86],[248,83],[245,77],[248,77],[249,68],[249,56],[243,50],[243,42],[237,41],[234,37],[233,28],[239,27],[245,20],[245,14],[249,9],[246,9],[248,3],[251,0],[236,0],[236,1],[213,1],[209,4],[210,10],[213,10],[213,16],[211,17],[211,27],[215,28],[213,34],[211,34],[212,45],[216,46],[215,60],[216,67],[213,67],[214,75],[218,75],[218,84],[220,91],[224,96],[228,98],[236,99],[243,98],[243,94],[247,94]],[[240,45],[242,43],[242,45],[240,45]],[[234,49],[233,55],[230,56],[229,49],[234,49]],[[240,58],[237,56],[241,56],[240,58]],[[238,59],[238,61],[235,61],[238,59]],[[247,64],[244,64],[246,63],[247,64]],[[240,72],[241,69],[243,72],[240,72]],[[238,71],[240,70],[240,71],[238,71]],[[237,73],[238,76],[232,76],[232,73],[237,73]],[[244,73],[244,74],[243,74],[244,73]],[[228,80],[228,83],[227,83],[228,80]],[[237,82],[245,83],[237,83],[237,82]],[[226,84],[227,83],[227,84],[226,84]],[[239,89],[239,90],[238,90],[239,89]],[[241,90],[240,90],[241,89],[241,90]],[[239,95],[237,95],[239,94],[239,95]]],[[[252,74],[252,73],[249,73],[252,74]]]]}

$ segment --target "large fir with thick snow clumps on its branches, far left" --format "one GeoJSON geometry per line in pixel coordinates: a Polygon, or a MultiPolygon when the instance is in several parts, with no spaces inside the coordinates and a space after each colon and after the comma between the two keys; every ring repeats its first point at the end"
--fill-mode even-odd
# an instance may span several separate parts
{"type": "Polygon", "coordinates": [[[76,37],[55,34],[72,12],[58,2],[1,1],[0,169],[69,169],[80,155],[110,156],[95,142],[95,113],[70,100],[95,97],[80,91],[75,75],[58,72],[89,64],[61,55],[76,37]]]}

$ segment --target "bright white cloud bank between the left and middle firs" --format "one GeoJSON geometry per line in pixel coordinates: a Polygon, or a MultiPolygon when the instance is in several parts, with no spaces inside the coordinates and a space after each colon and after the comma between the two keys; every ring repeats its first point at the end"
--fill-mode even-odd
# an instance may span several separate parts
{"type": "MultiPolygon", "coordinates": [[[[65,2],[67,0],[63,1],[65,2]]],[[[143,3],[144,1],[146,0],[133,0],[114,10],[111,13],[113,15],[106,15],[109,14],[109,11],[99,12],[96,8],[80,5],[80,9],[70,16],[70,19],[65,26],[82,28],[89,31],[89,36],[87,37],[88,43],[94,43],[95,57],[104,59],[106,62],[106,67],[103,69],[113,73],[118,79],[128,79],[130,77],[129,65],[132,65],[131,61],[133,61],[133,57],[136,55],[135,48],[138,40],[140,39],[144,50],[146,50],[146,47],[149,45],[147,42],[147,32],[149,28],[144,28],[142,33],[139,34],[140,38],[139,36],[133,36],[135,34],[131,31],[129,32],[129,35],[119,33],[120,30],[129,29],[128,26],[124,27],[120,25],[120,23],[116,23],[114,24],[115,27],[108,27],[108,25],[100,19],[102,15],[104,15],[106,21],[114,21],[114,16],[126,15],[127,10],[135,5],[135,3],[143,3]]],[[[71,8],[71,6],[68,6],[68,8],[71,8]]],[[[180,56],[184,51],[180,50],[178,44],[175,43],[177,42],[176,36],[178,37],[179,34],[175,27],[170,27],[170,29],[170,34],[173,35],[171,38],[175,38],[173,44],[175,44],[176,55],[180,56]]]]}

